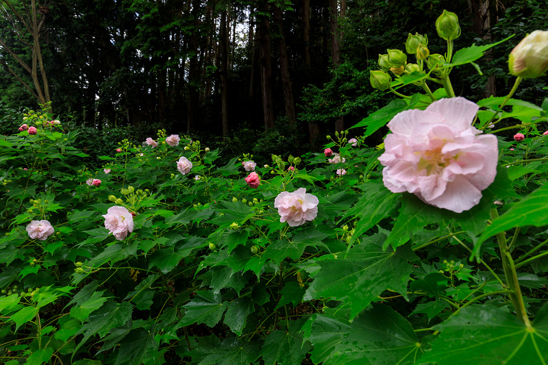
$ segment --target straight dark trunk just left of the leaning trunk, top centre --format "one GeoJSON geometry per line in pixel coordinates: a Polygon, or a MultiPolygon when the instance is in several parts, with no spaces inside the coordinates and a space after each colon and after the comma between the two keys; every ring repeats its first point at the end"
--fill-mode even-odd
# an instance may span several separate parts
{"type": "MultiPolygon", "coordinates": [[[[269,11],[269,4],[265,4],[263,12],[269,11]]],[[[260,27],[260,66],[262,88],[262,111],[264,129],[274,127],[274,95],[272,88],[272,50],[270,40],[269,18],[263,16],[260,27]]]]}

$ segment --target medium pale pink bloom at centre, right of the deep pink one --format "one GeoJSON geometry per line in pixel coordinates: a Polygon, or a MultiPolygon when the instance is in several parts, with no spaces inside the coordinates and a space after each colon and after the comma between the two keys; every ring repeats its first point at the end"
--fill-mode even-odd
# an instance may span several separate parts
{"type": "Polygon", "coordinates": [[[299,188],[294,192],[280,192],[274,200],[274,207],[278,209],[280,222],[296,227],[316,218],[318,203],[317,197],[306,194],[305,188],[299,188]]]}

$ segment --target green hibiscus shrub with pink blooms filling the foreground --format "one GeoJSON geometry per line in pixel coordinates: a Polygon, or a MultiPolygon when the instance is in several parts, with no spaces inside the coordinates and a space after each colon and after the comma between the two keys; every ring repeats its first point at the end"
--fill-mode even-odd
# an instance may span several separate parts
{"type": "Polygon", "coordinates": [[[22,121],[0,136],[1,362],[547,364],[548,99],[453,97],[484,50],[389,64],[385,90],[425,94],[270,165],[160,130],[90,168],[77,132],[22,121]],[[510,118],[523,139],[495,137],[510,118]]]}

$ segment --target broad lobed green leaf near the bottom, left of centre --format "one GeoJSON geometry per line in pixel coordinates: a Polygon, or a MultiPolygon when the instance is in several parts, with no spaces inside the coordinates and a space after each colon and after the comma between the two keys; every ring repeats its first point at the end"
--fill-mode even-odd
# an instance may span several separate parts
{"type": "Polygon", "coordinates": [[[228,302],[221,301],[221,294],[214,294],[212,290],[198,291],[194,300],[186,305],[184,317],[178,327],[203,323],[208,327],[214,327],[228,308],[228,302]]]}

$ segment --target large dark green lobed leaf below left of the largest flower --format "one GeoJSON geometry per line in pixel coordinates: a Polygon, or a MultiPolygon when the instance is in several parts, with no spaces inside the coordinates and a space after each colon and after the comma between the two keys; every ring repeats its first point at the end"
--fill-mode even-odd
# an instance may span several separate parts
{"type": "Polygon", "coordinates": [[[364,238],[349,253],[324,255],[312,260],[321,267],[306,290],[305,300],[332,298],[349,301],[351,318],[360,313],[386,289],[399,292],[407,298],[407,284],[412,272],[408,263],[414,253],[408,247],[395,252],[382,249],[386,236],[375,234],[364,238]]]}

